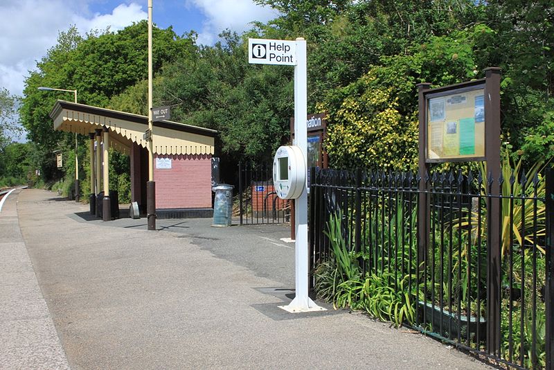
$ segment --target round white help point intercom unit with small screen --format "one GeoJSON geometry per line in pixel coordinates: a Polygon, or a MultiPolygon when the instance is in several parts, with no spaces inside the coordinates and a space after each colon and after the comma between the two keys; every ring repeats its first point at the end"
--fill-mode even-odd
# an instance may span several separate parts
{"type": "Polygon", "coordinates": [[[306,165],[298,146],[281,146],[273,160],[273,184],[281,199],[296,199],[305,188],[306,165]]]}

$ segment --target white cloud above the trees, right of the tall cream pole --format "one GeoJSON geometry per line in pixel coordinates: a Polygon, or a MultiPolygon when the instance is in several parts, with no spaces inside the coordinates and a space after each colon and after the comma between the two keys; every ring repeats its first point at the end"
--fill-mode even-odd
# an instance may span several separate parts
{"type": "Polygon", "coordinates": [[[206,16],[198,43],[211,45],[222,30],[229,28],[238,33],[251,27],[251,21],[269,21],[278,12],[267,6],[259,6],[252,0],[186,0],[187,6],[199,8],[206,16]]]}

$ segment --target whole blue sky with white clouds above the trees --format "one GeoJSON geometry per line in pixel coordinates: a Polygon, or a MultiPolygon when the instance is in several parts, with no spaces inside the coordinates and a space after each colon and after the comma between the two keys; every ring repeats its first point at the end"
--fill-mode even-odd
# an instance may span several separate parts
{"type": "MultiPolygon", "coordinates": [[[[278,14],[252,0],[152,0],[157,26],[173,26],[177,35],[198,33],[199,44],[212,45],[229,28],[238,33],[251,21],[268,21],[278,14]]],[[[35,69],[60,31],[71,25],[80,33],[120,30],[148,19],[148,0],[0,0],[0,88],[21,96],[28,71],[35,69]]],[[[57,87],[57,86],[52,86],[57,87]]],[[[60,86],[58,88],[65,88],[60,86]]]]}

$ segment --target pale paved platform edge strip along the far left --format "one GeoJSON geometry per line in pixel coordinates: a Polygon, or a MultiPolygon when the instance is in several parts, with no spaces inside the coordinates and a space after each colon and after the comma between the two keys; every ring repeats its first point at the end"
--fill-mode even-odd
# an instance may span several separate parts
{"type": "Polygon", "coordinates": [[[0,213],[0,369],[69,369],[19,231],[20,192],[0,213]]]}

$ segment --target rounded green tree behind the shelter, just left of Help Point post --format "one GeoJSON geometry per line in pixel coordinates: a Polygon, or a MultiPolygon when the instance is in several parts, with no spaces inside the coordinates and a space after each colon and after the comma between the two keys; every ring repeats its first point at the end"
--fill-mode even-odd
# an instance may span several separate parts
{"type": "Polygon", "coordinates": [[[172,106],[176,121],[218,130],[226,159],[267,160],[289,137],[292,69],[250,65],[245,39],[229,32],[221,36],[195,60],[168,64],[157,98],[172,106]]]}

